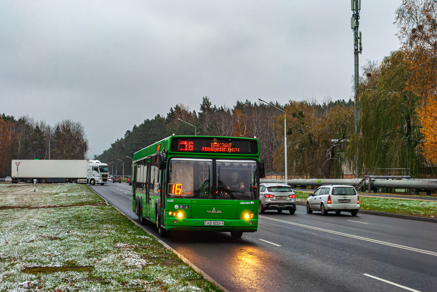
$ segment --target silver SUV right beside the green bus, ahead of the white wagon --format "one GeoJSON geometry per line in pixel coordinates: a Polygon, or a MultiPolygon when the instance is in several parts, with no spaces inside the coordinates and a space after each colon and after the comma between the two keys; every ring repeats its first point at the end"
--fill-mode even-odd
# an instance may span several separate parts
{"type": "Polygon", "coordinates": [[[296,195],[290,186],[284,183],[261,183],[260,184],[260,209],[265,210],[288,210],[290,214],[296,212],[296,195]]]}

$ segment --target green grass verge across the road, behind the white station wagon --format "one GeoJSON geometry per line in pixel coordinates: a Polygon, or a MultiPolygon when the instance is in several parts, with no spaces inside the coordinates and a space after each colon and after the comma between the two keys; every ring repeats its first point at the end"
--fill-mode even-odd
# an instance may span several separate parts
{"type": "MultiPolygon", "coordinates": [[[[295,192],[296,202],[306,203],[307,192],[295,192]]],[[[437,202],[360,197],[360,209],[376,212],[395,213],[410,216],[437,218],[437,202]]]]}

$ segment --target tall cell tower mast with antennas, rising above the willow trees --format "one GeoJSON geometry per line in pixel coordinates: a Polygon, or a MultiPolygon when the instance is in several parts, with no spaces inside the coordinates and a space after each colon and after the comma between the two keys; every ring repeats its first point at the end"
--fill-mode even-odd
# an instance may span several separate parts
{"type": "MultiPolygon", "coordinates": [[[[361,31],[358,33],[358,25],[360,24],[360,10],[361,10],[361,0],[350,0],[351,9],[354,11],[352,17],[350,18],[350,28],[354,30],[354,107],[355,107],[355,141],[358,138],[358,119],[360,114],[358,112],[357,103],[357,92],[358,92],[358,78],[360,73],[360,68],[358,66],[358,54],[361,54],[363,50],[361,46],[361,31]]],[[[355,148],[355,178],[358,178],[358,141],[357,147],[355,148]]]]}

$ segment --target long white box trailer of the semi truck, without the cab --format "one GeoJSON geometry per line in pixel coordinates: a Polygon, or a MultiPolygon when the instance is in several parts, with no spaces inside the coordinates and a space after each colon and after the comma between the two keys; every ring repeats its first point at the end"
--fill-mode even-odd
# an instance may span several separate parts
{"type": "Polygon", "coordinates": [[[12,179],[20,182],[86,182],[87,160],[12,160],[12,179]],[[18,164],[18,167],[17,167],[18,164]],[[18,173],[17,173],[18,168],[18,173]],[[83,181],[83,179],[85,181],[83,181]]]}

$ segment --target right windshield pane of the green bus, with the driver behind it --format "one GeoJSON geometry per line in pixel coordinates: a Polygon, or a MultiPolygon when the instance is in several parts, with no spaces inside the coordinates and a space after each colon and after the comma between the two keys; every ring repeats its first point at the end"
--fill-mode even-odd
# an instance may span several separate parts
{"type": "Polygon", "coordinates": [[[216,160],[216,199],[258,199],[257,161],[216,160]]]}

